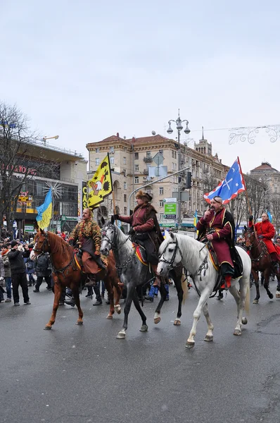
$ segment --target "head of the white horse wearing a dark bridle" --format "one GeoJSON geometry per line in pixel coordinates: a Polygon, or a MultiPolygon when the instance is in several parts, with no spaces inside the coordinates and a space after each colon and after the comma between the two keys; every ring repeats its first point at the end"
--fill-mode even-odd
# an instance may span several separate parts
{"type": "Polygon", "coordinates": [[[165,276],[167,271],[182,261],[182,252],[178,245],[177,235],[170,233],[160,245],[160,259],[158,262],[158,274],[165,276]]]}

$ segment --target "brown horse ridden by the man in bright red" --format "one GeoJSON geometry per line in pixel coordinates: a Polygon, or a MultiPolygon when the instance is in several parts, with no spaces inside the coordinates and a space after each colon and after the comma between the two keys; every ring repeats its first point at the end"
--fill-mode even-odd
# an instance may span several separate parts
{"type": "MultiPolygon", "coordinates": [[[[250,258],[252,260],[252,274],[255,281],[255,289],[257,291],[253,304],[258,304],[260,299],[260,285],[258,272],[263,272],[264,277],[264,288],[267,291],[267,295],[270,300],[273,298],[273,294],[269,290],[269,276],[272,271],[272,259],[267,251],[267,246],[262,240],[257,239],[254,227],[247,228],[244,226],[243,236],[245,238],[245,245],[250,252],[250,258]]],[[[279,281],[279,275],[276,275],[279,281]]]]}

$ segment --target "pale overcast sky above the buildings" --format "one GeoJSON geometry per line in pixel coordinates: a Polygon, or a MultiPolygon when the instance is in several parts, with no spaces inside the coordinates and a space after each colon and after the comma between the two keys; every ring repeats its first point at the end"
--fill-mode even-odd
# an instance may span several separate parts
{"type": "Polygon", "coordinates": [[[280,133],[229,145],[229,130],[209,130],[280,125],[279,12],[277,0],[6,1],[0,99],[85,157],[117,132],[167,135],[180,108],[224,164],[280,171],[280,133]]]}

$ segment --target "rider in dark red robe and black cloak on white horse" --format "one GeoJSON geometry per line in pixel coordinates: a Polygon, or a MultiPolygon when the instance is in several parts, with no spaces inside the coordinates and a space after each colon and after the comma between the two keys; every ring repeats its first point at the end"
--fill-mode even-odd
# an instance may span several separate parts
{"type": "MultiPolygon", "coordinates": [[[[221,288],[230,288],[234,276],[234,218],[223,206],[221,197],[213,197],[210,210],[198,221],[198,240],[207,239],[217,255],[220,272],[224,277],[221,288]]],[[[240,275],[241,276],[241,275],[240,275]]]]}

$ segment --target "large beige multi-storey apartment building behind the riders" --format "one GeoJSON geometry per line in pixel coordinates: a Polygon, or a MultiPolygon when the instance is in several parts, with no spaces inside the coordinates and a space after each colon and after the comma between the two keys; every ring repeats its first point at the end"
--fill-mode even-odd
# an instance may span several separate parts
{"type": "MultiPolygon", "coordinates": [[[[182,226],[188,226],[184,220],[191,218],[198,210],[198,215],[203,214],[206,203],[203,200],[203,193],[209,192],[217,186],[224,178],[229,169],[224,166],[221,160],[212,156],[212,145],[204,137],[194,145],[194,149],[187,145],[178,145],[172,140],[162,135],[149,137],[139,137],[127,140],[125,137],[111,135],[105,140],[90,142],[87,144],[89,151],[89,178],[98,168],[103,158],[109,153],[110,166],[113,176],[113,189],[115,193],[115,205],[117,212],[129,215],[129,209],[135,207],[134,195],[129,204],[129,195],[145,185],[144,190],[153,195],[153,205],[160,214],[160,221],[163,221],[163,200],[173,196],[179,187],[182,191],[189,193],[189,200],[182,202],[182,226]],[[149,167],[160,167],[155,164],[153,157],[155,154],[163,155],[162,166],[167,166],[167,175],[170,178],[162,180],[153,185],[151,182],[159,177],[149,176],[149,167]],[[172,173],[181,168],[188,168],[192,173],[192,188],[186,189],[186,173],[182,173],[182,180],[178,175],[172,173]]],[[[158,175],[159,169],[153,169],[153,173],[158,175]]],[[[97,218],[101,215],[108,217],[113,214],[113,199],[110,195],[101,204],[97,211],[97,218]]]]}

